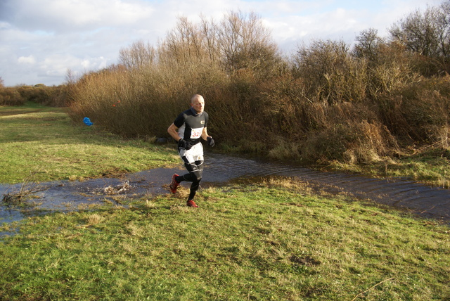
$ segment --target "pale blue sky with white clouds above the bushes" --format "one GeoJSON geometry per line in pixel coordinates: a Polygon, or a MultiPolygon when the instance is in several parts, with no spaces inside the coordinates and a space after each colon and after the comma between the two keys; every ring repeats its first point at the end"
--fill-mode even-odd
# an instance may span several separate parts
{"type": "Polygon", "coordinates": [[[416,10],[444,0],[0,0],[0,77],[6,87],[53,86],[118,63],[136,41],[157,46],[179,17],[219,22],[230,11],[256,13],[285,54],[311,40],[354,43],[381,37],[416,10]]]}

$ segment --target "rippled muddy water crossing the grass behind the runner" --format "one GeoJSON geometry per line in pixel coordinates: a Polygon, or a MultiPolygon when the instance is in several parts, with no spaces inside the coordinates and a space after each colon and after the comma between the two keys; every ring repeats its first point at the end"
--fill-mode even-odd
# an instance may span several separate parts
{"type": "MultiPolygon", "coordinates": [[[[450,222],[450,190],[448,189],[432,188],[403,179],[383,180],[319,172],[304,167],[229,155],[207,153],[205,158],[203,185],[223,185],[239,177],[298,177],[328,192],[345,192],[356,198],[408,208],[425,217],[450,222]]],[[[184,167],[180,165],[179,168],[174,169],[157,168],[126,174],[120,179],[46,182],[39,184],[39,188],[44,190],[34,193],[31,202],[41,210],[65,211],[77,210],[77,208],[101,203],[104,200],[114,202],[117,196],[139,197],[146,194],[167,193],[167,184],[172,174],[184,174],[184,172],[184,167]]],[[[6,193],[19,189],[20,185],[0,185],[0,198],[6,193]]],[[[26,211],[2,206],[0,223],[20,220],[26,216],[26,211]]]]}

